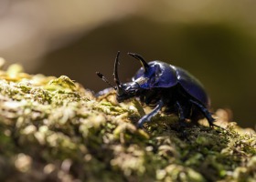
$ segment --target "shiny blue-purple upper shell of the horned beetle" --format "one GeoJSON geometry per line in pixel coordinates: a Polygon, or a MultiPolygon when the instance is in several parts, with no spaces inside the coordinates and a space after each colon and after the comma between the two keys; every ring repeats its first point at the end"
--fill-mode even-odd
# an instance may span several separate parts
{"type": "Polygon", "coordinates": [[[141,85],[144,89],[172,87],[179,83],[190,96],[196,98],[204,106],[210,107],[210,100],[204,86],[185,69],[161,61],[152,61],[148,65],[150,66],[148,74],[144,74],[144,68],[141,67],[133,76],[133,82],[142,76],[148,77],[148,81],[141,85]]]}

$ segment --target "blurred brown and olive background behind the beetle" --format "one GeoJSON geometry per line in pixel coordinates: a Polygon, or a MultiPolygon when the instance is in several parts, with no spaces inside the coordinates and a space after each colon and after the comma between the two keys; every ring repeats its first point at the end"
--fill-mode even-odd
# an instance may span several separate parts
{"type": "Polygon", "coordinates": [[[97,92],[140,67],[138,53],[196,76],[212,108],[230,109],[240,126],[256,124],[256,1],[1,0],[0,56],[30,74],[66,75],[97,92]]]}

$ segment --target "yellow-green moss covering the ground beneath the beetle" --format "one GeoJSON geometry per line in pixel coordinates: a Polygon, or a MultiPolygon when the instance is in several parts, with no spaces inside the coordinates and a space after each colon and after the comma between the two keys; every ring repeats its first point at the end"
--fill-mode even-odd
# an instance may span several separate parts
{"type": "MultiPolygon", "coordinates": [[[[253,181],[256,136],[229,123],[178,129],[157,115],[144,130],[136,100],[96,99],[67,76],[0,71],[1,181],[253,181]]],[[[219,114],[221,112],[221,115],[219,114]]],[[[227,114],[227,113],[226,113],[227,114]]]]}

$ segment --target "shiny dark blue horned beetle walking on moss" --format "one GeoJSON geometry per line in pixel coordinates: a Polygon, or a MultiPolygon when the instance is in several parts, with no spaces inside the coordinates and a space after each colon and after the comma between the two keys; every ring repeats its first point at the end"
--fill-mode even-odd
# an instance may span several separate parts
{"type": "Polygon", "coordinates": [[[144,115],[137,126],[143,127],[160,110],[165,114],[176,114],[179,117],[181,126],[185,121],[197,121],[206,117],[209,126],[215,119],[208,111],[210,100],[202,84],[195,76],[189,74],[185,69],[172,66],[162,61],[145,62],[138,54],[128,53],[129,56],[140,61],[142,67],[133,76],[132,81],[122,84],[118,75],[120,52],[117,53],[114,62],[113,77],[116,86],[99,72],[96,72],[101,79],[116,90],[116,99],[123,102],[132,97],[139,97],[140,101],[154,109],[144,115]]]}

